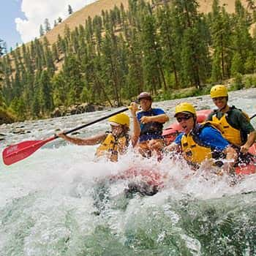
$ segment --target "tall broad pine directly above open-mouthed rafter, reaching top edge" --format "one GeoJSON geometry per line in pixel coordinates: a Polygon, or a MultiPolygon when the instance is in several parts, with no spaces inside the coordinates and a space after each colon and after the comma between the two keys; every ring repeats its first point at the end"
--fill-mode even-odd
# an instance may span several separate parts
{"type": "Polygon", "coordinates": [[[197,13],[195,0],[173,0],[173,17],[176,17],[176,37],[181,43],[181,78],[184,86],[197,89],[206,82],[208,75],[208,48],[204,20],[197,13]]]}

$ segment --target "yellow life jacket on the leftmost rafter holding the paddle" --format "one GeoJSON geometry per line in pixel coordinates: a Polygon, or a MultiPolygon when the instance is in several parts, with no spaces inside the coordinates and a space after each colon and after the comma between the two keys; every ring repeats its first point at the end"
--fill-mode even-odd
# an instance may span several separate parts
{"type": "Polygon", "coordinates": [[[109,159],[111,162],[117,162],[118,154],[124,154],[129,145],[129,135],[121,135],[118,138],[108,133],[105,140],[97,148],[96,156],[102,157],[104,154],[110,153],[109,159]]]}

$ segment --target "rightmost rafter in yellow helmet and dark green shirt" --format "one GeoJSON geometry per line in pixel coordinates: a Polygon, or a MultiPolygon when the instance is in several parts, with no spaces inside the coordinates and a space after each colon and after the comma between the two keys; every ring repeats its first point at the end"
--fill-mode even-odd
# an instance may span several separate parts
{"type": "Polygon", "coordinates": [[[256,138],[249,117],[235,106],[227,105],[228,93],[224,85],[213,86],[210,94],[217,110],[210,113],[207,120],[221,124],[224,129],[223,136],[233,145],[240,147],[241,153],[246,154],[256,138]]]}

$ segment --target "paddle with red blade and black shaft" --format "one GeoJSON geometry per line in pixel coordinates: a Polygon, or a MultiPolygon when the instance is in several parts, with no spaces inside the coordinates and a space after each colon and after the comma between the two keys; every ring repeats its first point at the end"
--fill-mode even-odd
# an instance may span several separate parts
{"type": "MultiPolygon", "coordinates": [[[[83,124],[80,127],[70,129],[69,131],[64,132],[64,134],[67,135],[71,132],[77,131],[78,129],[83,129],[85,127],[89,127],[92,124],[96,124],[99,121],[110,118],[111,116],[115,116],[116,114],[122,113],[126,110],[128,110],[128,108],[118,110],[115,113],[111,113],[108,116],[103,116],[102,118],[98,118],[94,121],[91,121],[88,124],[83,124]]],[[[15,145],[8,146],[7,148],[4,148],[4,151],[3,151],[3,154],[2,154],[4,164],[5,165],[12,165],[15,162],[18,162],[22,159],[25,159],[26,157],[29,157],[31,154],[33,154],[34,151],[37,151],[38,148],[41,148],[43,145],[45,145],[45,143],[48,143],[51,140],[55,140],[56,138],[58,138],[58,136],[53,135],[52,137],[50,137],[48,139],[45,139],[45,140],[27,140],[27,141],[23,141],[23,142],[20,142],[18,144],[15,144],[15,145]]]]}

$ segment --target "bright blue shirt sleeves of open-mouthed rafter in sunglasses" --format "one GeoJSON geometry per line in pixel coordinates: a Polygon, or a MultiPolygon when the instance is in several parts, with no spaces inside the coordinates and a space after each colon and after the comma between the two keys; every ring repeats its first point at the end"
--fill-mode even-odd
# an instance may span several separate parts
{"type": "MultiPolygon", "coordinates": [[[[174,140],[176,144],[181,144],[182,135],[184,135],[183,132],[176,137],[176,140],[174,140]]],[[[201,143],[206,146],[211,146],[211,148],[217,151],[223,151],[225,148],[227,148],[227,146],[230,145],[228,141],[223,138],[222,134],[213,127],[203,127],[198,135],[198,138],[201,143]]]]}

